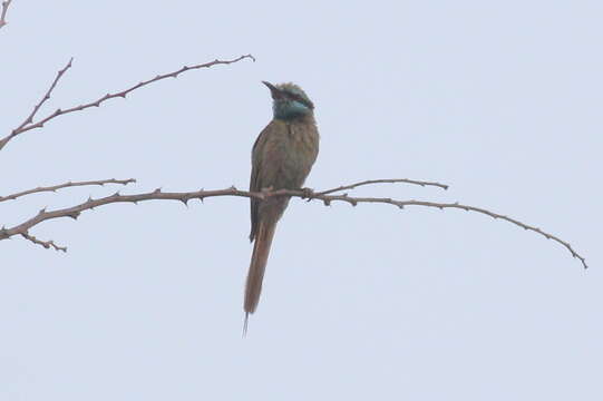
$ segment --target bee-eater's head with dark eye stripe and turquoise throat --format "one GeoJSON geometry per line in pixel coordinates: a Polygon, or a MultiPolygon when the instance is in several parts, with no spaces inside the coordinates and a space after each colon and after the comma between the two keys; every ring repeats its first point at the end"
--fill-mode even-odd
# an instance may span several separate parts
{"type": "Polygon", "coordinates": [[[262,84],[270,89],[272,95],[274,118],[291,120],[313,113],[314,104],[299,86],[294,84],[272,85],[266,81],[262,81],[262,84]]]}

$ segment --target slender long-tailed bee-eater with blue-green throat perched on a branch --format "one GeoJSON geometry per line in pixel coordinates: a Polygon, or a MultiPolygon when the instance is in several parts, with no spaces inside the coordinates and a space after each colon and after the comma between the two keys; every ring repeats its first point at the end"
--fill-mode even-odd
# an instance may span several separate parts
{"type": "MultiPolygon", "coordinates": [[[[262,84],[272,96],[273,118],[253,145],[250,192],[301,189],[319,154],[314,104],[294,84],[262,84]]],[[[254,245],[245,283],[243,335],[250,314],[257,309],[276,223],[289,200],[284,196],[251,198],[250,241],[254,245]]]]}

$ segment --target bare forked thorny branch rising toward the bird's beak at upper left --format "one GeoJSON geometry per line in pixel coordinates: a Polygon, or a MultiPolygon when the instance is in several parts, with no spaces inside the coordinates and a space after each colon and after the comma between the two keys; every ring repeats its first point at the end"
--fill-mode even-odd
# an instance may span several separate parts
{"type": "MultiPolygon", "coordinates": [[[[39,119],[38,121],[33,123],[33,121],[29,121],[28,124],[26,124],[25,126],[21,125],[19,126],[18,128],[14,128],[8,136],[6,136],[4,138],[0,139],[0,150],[12,139],[14,138],[16,136],[22,134],[22,133],[26,133],[28,130],[31,130],[31,129],[35,129],[35,128],[41,128],[43,127],[43,125],[46,123],[48,123],[49,120],[54,119],[54,118],[57,118],[59,116],[64,116],[66,114],[70,114],[70,113],[74,113],[74,111],[81,111],[84,109],[87,109],[87,108],[90,108],[90,107],[99,107],[100,104],[109,100],[109,99],[113,99],[113,98],[117,98],[117,97],[120,97],[120,98],[126,98],[126,95],[128,95],[129,92],[132,92],[133,90],[136,90],[138,88],[142,88],[144,86],[147,86],[149,84],[153,84],[153,82],[156,82],[158,80],[162,80],[162,79],[166,79],[166,78],[177,78],[178,75],[183,74],[183,72],[186,72],[186,71],[189,71],[189,70],[195,70],[195,69],[200,69],[200,68],[210,68],[210,67],[213,67],[213,66],[217,66],[217,65],[230,65],[230,63],[234,63],[234,62],[237,62],[237,61],[241,61],[243,59],[251,59],[253,61],[255,61],[255,58],[252,56],[252,55],[244,55],[244,56],[240,56],[235,59],[232,59],[232,60],[214,60],[214,61],[210,61],[210,62],[205,62],[205,63],[200,63],[200,65],[195,65],[195,66],[191,66],[191,67],[187,67],[187,66],[184,66],[182,67],[181,69],[176,70],[176,71],[173,71],[173,72],[169,72],[169,74],[164,74],[164,75],[158,75],[156,76],[155,78],[152,78],[152,79],[148,79],[146,81],[140,81],[125,90],[121,90],[119,92],[116,92],[116,94],[107,94],[94,101],[90,101],[88,104],[84,104],[84,105],[79,105],[79,106],[75,106],[75,107],[71,107],[71,108],[68,108],[68,109],[56,109],[54,113],[51,113],[50,115],[39,119]]],[[[71,61],[69,61],[68,63],[68,67],[70,67],[70,63],[71,61]]],[[[65,70],[67,70],[66,67],[64,70],[61,70],[62,72],[65,72],[65,70]]],[[[61,71],[58,72],[57,75],[57,79],[55,80],[54,85],[56,85],[56,81],[58,81],[58,79],[60,78],[60,76],[62,75],[61,71]]],[[[49,89],[49,92],[50,90],[52,90],[54,88],[54,85],[51,86],[51,88],[49,89]]],[[[48,92],[48,94],[49,94],[48,92]]],[[[40,106],[41,104],[46,100],[46,97],[42,99],[42,101],[40,102],[40,106]]],[[[37,108],[35,108],[35,113],[37,113],[38,110],[38,106],[37,108]]],[[[27,121],[27,119],[26,119],[27,121]]]]}

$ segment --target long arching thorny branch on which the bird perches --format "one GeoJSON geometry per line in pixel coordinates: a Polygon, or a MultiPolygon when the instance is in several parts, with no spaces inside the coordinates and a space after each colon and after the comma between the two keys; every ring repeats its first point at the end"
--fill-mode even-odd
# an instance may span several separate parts
{"type": "MultiPolygon", "coordinates": [[[[387,180],[387,179],[376,179],[372,180],[375,183],[387,183],[387,182],[405,182],[405,180],[387,180]]],[[[362,184],[362,183],[361,183],[362,184]]],[[[352,187],[354,185],[351,185],[352,187]]],[[[344,186],[350,187],[350,186],[344,186]]],[[[93,209],[98,206],[113,204],[113,203],[134,203],[137,204],[138,202],[144,200],[152,200],[152,199],[163,199],[163,200],[179,200],[184,204],[187,204],[191,199],[200,199],[203,200],[207,197],[217,197],[217,196],[240,196],[240,197],[249,197],[249,198],[256,198],[264,200],[266,198],[273,197],[273,196],[292,196],[292,197],[299,197],[299,198],[307,198],[307,199],[318,199],[322,200],[325,206],[329,206],[332,202],[346,202],[349,203],[352,206],[357,206],[361,203],[377,203],[377,204],[389,204],[397,206],[399,208],[403,208],[405,206],[424,206],[424,207],[437,207],[439,209],[445,208],[457,208],[463,209],[467,212],[475,212],[483,215],[490,216],[495,219],[504,219],[506,222],[509,222],[512,224],[515,224],[524,229],[535,232],[542,236],[544,236],[547,239],[553,239],[557,242],[558,244],[563,245],[573,257],[577,257],[581,262],[584,268],[587,268],[586,260],[581,256],[577,252],[574,251],[574,248],[565,241],[558,238],[557,236],[549,234],[547,232],[542,231],[538,227],[527,225],[525,223],[522,223],[515,218],[497,214],[494,212],[489,212],[485,208],[469,206],[469,205],[461,205],[459,203],[436,203],[436,202],[425,202],[425,200],[397,200],[392,198],[378,198],[378,197],[351,197],[348,196],[348,194],[342,195],[324,195],[332,192],[339,190],[339,188],[328,189],[319,193],[311,193],[308,190],[291,190],[291,189],[279,189],[274,192],[247,192],[247,190],[239,190],[235,187],[226,188],[226,189],[217,189],[217,190],[197,190],[197,192],[188,192],[188,193],[166,193],[162,192],[161,188],[157,188],[149,193],[144,194],[136,194],[136,195],[120,195],[118,192],[105,196],[98,199],[88,198],[88,200],[72,206],[67,207],[62,209],[56,209],[56,211],[46,211],[41,209],[36,216],[27,219],[26,222],[18,224],[13,227],[0,228],[0,241],[10,238],[13,235],[23,235],[23,233],[27,234],[28,229],[33,227],[35,225],[42,223],[45,221],[51,219],[51,218],[59,218],[59,217],[71,217],[74,219],[77,219],[81,212],[93,209]]]]}

